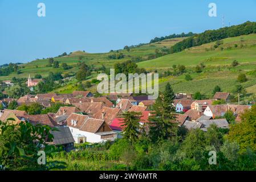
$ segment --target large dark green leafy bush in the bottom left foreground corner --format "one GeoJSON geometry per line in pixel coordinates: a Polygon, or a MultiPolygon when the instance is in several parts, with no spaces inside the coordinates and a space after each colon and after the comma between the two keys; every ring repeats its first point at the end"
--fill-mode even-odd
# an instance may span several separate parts
{"type": "Polygon", "coordinates": [[[51,141],[53,138],[49,126],[34,126],[29,122],[18,125],[0,122],[0,127],[0,164],[3,167],[9,170],[46,169],[37,160],[39,151],[43,150],[47,156],[51,156],[54,151],[54,146],[46,143],[46,139],[51,141]]]}

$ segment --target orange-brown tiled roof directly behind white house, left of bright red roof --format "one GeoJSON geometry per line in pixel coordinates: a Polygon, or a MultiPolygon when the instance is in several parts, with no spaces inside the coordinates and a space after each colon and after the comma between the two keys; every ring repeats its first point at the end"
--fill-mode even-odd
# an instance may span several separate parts
{"type": "Polygon", "coordinates": [[[103,107],[101,110],[94,114],[93,118],[104,119],[108,125],[110,125],[113,119],[117,118],[117,115],[121,114],[121,110],[118,108],[103,107]]]}

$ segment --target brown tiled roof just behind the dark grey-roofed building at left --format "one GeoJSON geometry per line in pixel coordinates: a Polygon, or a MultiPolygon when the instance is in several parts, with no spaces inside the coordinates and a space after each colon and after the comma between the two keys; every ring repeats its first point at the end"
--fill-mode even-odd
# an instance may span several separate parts
{"type": "Polygon", "coordinates": [[[48,113],[48,114],[38,114],[38,115],[27,115],[25,119],[27,119],[27,121],[33,123],[34,125],[41,124],[41,125],[48,125],[50,127],[58,126],[58,123],[55,122],[54,118],[52,117],[53,115],[48,113]]]}

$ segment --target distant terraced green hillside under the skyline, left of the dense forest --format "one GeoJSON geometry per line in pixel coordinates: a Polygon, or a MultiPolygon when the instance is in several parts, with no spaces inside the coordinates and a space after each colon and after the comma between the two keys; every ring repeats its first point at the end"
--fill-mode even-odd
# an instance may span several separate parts
{"type": "Polygon", "coordinates": [[[55,57],[54,60],[59,61],[60,65],[60,67],[56,69],[52,67],[46,67],[48,64],[48,59],[34,60],[30,63],[19,65],[22,72],[21,74],[17,75],[17,73],[11,73],[9,76],[0,76],[0,80],[9,80],[13,77],[27,78],[29,74],[31,77],[36,74],[40,74],[45,77],[48,75],[48,72],[76,72],[78,71],[77,64],[79,61],[84,61],[88,65],[94,65],[94,67],[101,67],[101,65],[104,65],[107,68],[111,68],[115,63],[119,61],[131,60],[132,57],[141,57],[142,59],[147,59],[149,55],[155,54],[155,49],[173,46],[174,44],[181,42],[184,39],[185,38],[167,39],[162,42],[131,48],[129,52],[127,50],[121,49],[118,52],[122,52],[124,54],[124,59],[108,58],[109,55],[117,53],[117,51],[108,53],[87,53],[83,51],[76,51],[64,57],[55,57]],[[62,63],[67,63],[72,68],[64,71],[64,69],[61,67],[62,63]]]}

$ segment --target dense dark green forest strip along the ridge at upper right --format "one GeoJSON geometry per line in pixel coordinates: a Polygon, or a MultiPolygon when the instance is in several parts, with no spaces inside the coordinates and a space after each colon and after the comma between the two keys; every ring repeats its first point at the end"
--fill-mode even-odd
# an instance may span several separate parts
{"type": "Polygon", "coordinates": [[[254,33],[256,33],[256,22],[246,22],[237,26],[220,28],[218,30],[208,30],[175,44],[170,48],[170,53],[181,52],[186,48],[201,46],[202,44],[221,39],[254,33]]]}

